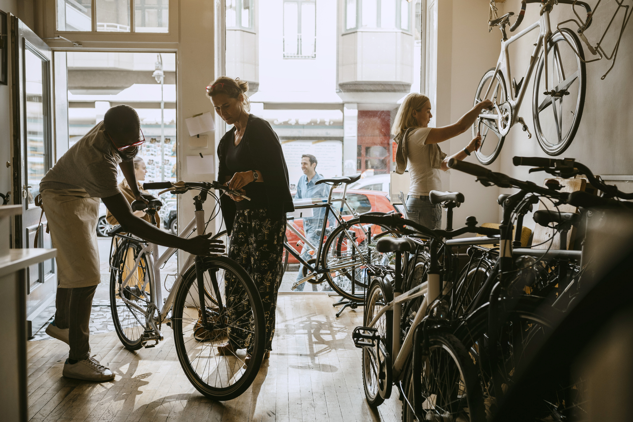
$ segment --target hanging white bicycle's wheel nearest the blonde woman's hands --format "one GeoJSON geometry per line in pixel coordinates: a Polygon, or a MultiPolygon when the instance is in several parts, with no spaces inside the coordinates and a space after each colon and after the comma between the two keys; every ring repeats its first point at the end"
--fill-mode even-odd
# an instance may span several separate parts
{"type": "MultiPolygon", "coordinates": [[[[507,127],[511,124],[511,111],[509,109],[510,104],[508,104],[508,92],[506,92],[506,82],[503,78],[503,73],[499,70],[494,82],[492,82],[493,75],[494,68],[487,70],[481,78],[479,85],[477,86],[477,92],[475,93],[475,104],[486,98],[490,99],[496,106],[498,106],[501,114],[503,115],[501,127],[499,127],[499,120],[486,118],[479,118],[475,120],[475,125],[473,125],[473,138],[477,136],[477,132],[481,135],[481,146],[479,147],[479,150],[475,151],[475,156],[477,156],[479,162],[484,164],[484,166],[491,164],[492,161],[499,156],[501,147],[503,147],[503,140],[506,139],[505,134],[502,133],[507,133],[507,127]],[[488,85],[491,82],[493,83],[492,88],[488,93],[488,96],[484,98],[488,85]]],[[[481,114],[498,115],[499,113],[496,108],[493,108],[492,110],[484,110],[481,114]]]]}

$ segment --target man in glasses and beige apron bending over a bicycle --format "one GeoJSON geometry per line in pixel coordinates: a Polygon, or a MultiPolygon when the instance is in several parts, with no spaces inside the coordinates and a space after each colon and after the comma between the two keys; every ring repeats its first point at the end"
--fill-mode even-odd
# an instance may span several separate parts
{"type": "Polygon", "coordinates": [[[139,192],[134,175],[133,159],[144,140],[133,108],[110,108],[103,121],[61,156],[40,185],[58,268],[57,309],[46,333],[70,346],[62,373],[68,378],[96,382],[115,378],[91,357],[89,344],[92,297],[101,282],[96,234],[99,198],[127,232],[141,239],[196,255],[223,251],[220,242],[209,239],[211,233],[180,239],[132,213],[118,189],[116,167],[121,168],[135,199],[156,199],[139,192]]]}

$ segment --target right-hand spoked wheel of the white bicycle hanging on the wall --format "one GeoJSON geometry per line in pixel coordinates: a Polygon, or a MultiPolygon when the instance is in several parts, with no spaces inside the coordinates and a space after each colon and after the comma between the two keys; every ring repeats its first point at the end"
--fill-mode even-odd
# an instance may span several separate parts
{"type": "Polygon", "coordinates": [[[576,135],[585,103],[587,76],[582,46],[570,29],[556,31],[548,42],[548,86],[544,92],[544,55],[534,75],[532,117],[534,132],[542,150],[551,156],[563,153],[576,135]],[[571,44],[571,46],[570,46],[571,44]],[[551,90],[556,95],[551,95],[551,90]]]}

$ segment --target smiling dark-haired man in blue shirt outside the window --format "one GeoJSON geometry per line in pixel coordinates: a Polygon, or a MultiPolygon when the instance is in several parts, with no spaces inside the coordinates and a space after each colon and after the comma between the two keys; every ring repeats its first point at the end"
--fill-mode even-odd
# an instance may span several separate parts
{"type": "MultiPolygon", "coordinates": [[[[299,182],[297,183],[297,194],[294,195],[294,199],[327,198],[330,190],[329,185],[325,183],[315,185],[318,180],[323,178],[322,175],[316,173],[317,163],[316,157],[311,154],[303,154],[301,156],[301,171],[303,171],[303,176],[299,178],[299,182]]],[[[303,232],[306,235],[306,239],[310,240],[315,247],[318,247],[318,241],[320,240],[320,236],[316,235],[316,229],[322,228],[324,215],[325,208],[313,208],[313,216],[303,218],[303,232]]],[[[336,220],[331,212],[328,215],[328,221],[330,222],[330,227],[334,228],[336,220]]],[[[301,254],[301,258],[306,261],[311,258],[310,254],[308,254],[309,249],[310,248],[305,245],[303,247],[303,254],[301,254]]],[[[303,278],[303,265],[299,264],[297,280],[301,280],[301,278],[303,278]]],[[[295,291],[303,292],[305,284],[306,283],[300,284],[295,291]]],[[[316,291],[316,285],[312,285],[312,290],[316,291]]]]}

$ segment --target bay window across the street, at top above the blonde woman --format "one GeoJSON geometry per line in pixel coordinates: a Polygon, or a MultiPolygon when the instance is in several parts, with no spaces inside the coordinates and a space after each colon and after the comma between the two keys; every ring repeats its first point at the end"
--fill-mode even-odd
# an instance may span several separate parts
{"type": "Polygon", "coordinates": [[[346,0],[345,29],[399,28],[410,30],[407,0],[346,0]]]}

